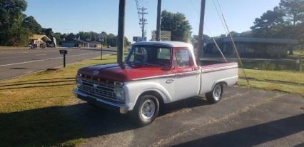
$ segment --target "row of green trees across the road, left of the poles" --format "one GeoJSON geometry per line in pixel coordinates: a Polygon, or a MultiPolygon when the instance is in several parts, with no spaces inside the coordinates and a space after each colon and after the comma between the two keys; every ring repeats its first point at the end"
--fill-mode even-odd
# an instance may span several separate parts
{"type": "MultiPolygon", "coordinates": [[[[27,3],[25,0],[1,0],[0,1],[0,46],[27,46],[29,44],[29,36],[33,34],[44,34],[52,41],[47,44],[53,44],[53,37],[56,44],[61,45],[64,40],[81,39],[83,41],[99,41],[100,34],[89,31],[80,31],[78,34],[69,33],[61,34],[53,32],[51,28],[43,28],[34,18],[34,16],[26,16],[27,3]]],[[[106,34],[104,36],[103,46],[116,46],[116,35],[106,34]]],[[[131,43],[125,37],[125,45],[130,46],[131,43]]]]}

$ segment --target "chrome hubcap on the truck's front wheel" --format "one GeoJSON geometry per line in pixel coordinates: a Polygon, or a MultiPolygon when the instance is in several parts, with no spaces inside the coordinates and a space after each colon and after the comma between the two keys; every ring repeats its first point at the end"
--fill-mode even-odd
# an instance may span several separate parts
{"type": "Polygon", "coordinates": [[[143,102],[143,105],[141,106],[141,116],[145,119],[150,119],[153,117],[155,112],[155,103],[154,101],[148,99],[145,102],[143,102]]]}

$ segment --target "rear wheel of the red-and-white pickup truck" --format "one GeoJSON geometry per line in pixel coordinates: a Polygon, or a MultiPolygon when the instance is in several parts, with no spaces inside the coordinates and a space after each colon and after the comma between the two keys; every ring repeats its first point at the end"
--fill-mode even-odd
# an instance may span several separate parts
{"type": "Polygon", "coordinates": [[[223,85],[217,83],[211,92],[206,93],[206,99],[209,103],[218,103],[223,95],[223,85]]]}

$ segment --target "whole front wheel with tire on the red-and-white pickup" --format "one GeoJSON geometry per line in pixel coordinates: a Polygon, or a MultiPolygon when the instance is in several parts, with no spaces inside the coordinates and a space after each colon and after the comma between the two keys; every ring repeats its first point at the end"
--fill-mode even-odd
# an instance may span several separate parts
{"type": "Polygon", "coordinates": [[[146,126],[158,116],[159,102],[156,96],[143,95],[131,112],[131,118],[137,126],[146,126]]]}

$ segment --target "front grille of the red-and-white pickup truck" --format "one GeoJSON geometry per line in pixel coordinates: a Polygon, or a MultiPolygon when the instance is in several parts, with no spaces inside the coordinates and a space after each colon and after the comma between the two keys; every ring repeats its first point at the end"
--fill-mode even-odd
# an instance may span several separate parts
{"type": "Polygon", "coordinates": [[[82,84],[78,87],[80,91],[89,95],[96,96],[97,98],[118,101],[114,93],[114,86],[109,86],[103,83],[96,83],[92,81],[82,80],[82,84]]]}

